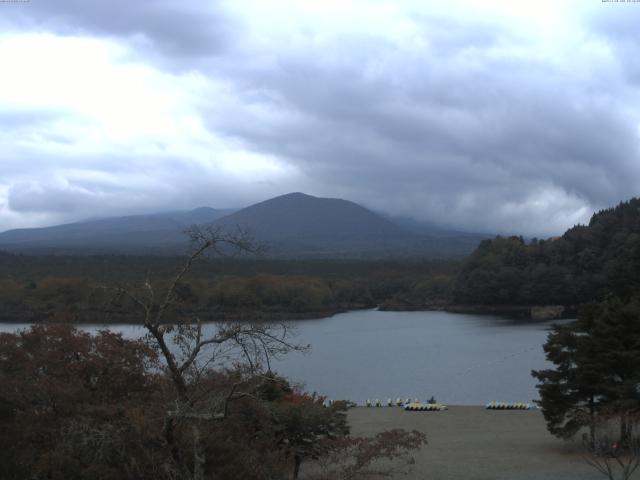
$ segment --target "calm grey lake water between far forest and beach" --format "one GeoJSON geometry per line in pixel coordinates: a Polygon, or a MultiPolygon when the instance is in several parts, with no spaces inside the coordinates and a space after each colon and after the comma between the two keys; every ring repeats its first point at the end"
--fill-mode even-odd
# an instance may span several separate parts
{"type": "MultiPolygon", "coordinates": [[[[425,401],[432,395],[450,405],[531,402],[538,395],[530,372],[548,366],[542,345],[550,322],[359,310],[289,324],[311,352],[289,354],[274,362],[274,370],[304,382],[310,392],[359,404],[388,397],[425,401]]],[[[0,324],[0,331],[25,327],[0,324]]],[[[144,334],[139,326],[109,328],[127,337],[144,334]]]]}

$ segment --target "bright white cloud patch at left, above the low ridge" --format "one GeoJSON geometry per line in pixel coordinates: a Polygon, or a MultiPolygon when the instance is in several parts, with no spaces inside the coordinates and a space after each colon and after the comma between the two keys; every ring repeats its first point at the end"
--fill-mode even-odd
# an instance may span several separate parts
{"type": "Polygon", "coordinates": [[[200,98],[215,101],[223,82],[128,52],[110,39],[0,36],[0,229],[233,207],[292,184],[294,168],[204,128],[200,98]]]}

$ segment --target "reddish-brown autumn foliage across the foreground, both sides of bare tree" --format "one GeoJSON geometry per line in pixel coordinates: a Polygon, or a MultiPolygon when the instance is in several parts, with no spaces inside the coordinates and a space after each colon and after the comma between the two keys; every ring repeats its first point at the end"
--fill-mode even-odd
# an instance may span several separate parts
{"type": "MultiPolygon", "coordinates": [[[[193,420],[178,419],[173,441],[166,436],[170,382],[154,349],[108,331],[0,334],[0,478],[193,478],[193,420]]],[[[424,443],[418,432],[352,438],[344,403],[326,407],[273,374],[211,371],[199,382],[210,395],[240,383],[243,392],[224,419],[199,421],[206,478],[288,479],[307,464],[306,477],[369,478],[378,460],[406,466],[424,443]]]]}

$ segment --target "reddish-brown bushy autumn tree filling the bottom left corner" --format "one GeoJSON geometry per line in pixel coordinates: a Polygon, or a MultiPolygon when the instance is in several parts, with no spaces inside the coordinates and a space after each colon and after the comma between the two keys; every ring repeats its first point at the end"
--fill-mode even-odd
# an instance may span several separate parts
{"type": "Polygon", "coordinates": [[[0,335],[0,352],[1,478],[153,473],[161,447],[150,418],[162,397],[153,350],[51,325],[0,335]]]}

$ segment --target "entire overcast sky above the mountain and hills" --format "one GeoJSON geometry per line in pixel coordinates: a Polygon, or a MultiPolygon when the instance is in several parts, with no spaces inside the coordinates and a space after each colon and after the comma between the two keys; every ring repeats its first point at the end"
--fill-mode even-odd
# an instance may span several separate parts
{"type": "Polygon", "coordinates": [[[0,3],[0,230],[302,191],[554,235],[640,194],[640,3],[0,3]]]}

